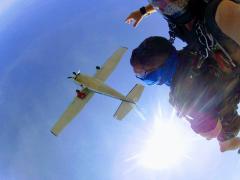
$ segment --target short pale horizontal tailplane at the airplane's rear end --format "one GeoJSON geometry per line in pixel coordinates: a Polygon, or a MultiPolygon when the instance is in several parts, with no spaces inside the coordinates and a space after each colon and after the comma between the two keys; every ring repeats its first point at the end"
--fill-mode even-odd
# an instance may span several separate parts
{"type": "MultiPolygon", "coordinates": [[[[126,97],[136,103],[141,97],[143,90],[144,86],[136,84],[126,97]]],[[[122,120],[133,108],[136,107],[135,103],[122,101],[117,111],[115,112],[114,117],[117,120],[122,120]]]]}

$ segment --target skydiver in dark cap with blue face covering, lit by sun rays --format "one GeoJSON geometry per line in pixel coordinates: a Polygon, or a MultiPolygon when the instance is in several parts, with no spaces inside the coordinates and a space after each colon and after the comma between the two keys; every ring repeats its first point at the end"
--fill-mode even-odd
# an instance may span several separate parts
{"type": "Polygon", "coordinates": [[[170,103],[196,133],[208,140],[217,138],[221,152],[238,149],[239,76],[232,76],[222,66],[224,62],[210,59],[199,69],[198,61],[187,48],[177,51],[167,39],[157,36],[145,39],[130,59],[139,79],[170,87],[170,103]]]}

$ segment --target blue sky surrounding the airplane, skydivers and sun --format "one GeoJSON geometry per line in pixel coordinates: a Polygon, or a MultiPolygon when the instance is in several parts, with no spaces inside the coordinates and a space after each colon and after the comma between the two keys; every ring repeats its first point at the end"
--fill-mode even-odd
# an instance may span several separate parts
{"type": "Polygon", "coordinates": [[[124,24],[125,17],[145,3],[1,1],[1,180],[239,179],[239,155],[221,154],[216,141],[195,135],[181,119],[177,127],[191,143],[176,167],[148,169],[132,158],[143,148],[159,106],[163,116],[170,117],[167,87],[146,88],[139,101],[146,120],[132,112],[118,122],[112,115],[120,102],[96,95],[59,137],[50,133],[75,96],[77,86],[66,79],[72,71],[92,75],[96,65],[119,46],[127,46],[129,51],[106,83],[127,94],[139,82],[129,65],[131,50],[146,37],[167,36],[159,14],[137,29],[124,24]]]}

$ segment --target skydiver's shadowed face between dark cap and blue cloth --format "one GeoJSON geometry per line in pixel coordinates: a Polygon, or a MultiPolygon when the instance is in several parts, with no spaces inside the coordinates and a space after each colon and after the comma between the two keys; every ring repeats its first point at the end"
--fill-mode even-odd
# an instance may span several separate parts
{"type": "Polygon", "coordinates": [[[146,75],[161,67],[164,64],[166,58],[166,55],[151,57],[148,59],[148,62],[145,65],[142,65],[139,63],[139,61],[137,61],[132,65],[133,71],[136,76],[146,75]]]}

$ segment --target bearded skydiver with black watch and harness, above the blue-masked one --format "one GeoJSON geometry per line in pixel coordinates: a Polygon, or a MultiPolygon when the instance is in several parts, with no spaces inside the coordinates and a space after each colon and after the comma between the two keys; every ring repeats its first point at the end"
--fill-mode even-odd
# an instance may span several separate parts
{"type": "Polygon", "coordinates": [[[223,51],[233,67],[240,64],[240,0],[149,0],[130,13],[126,23],[136,27],[144,17],[159,11],[169,25],[171,42],[179,37],[205,60],[223,51]]]}

